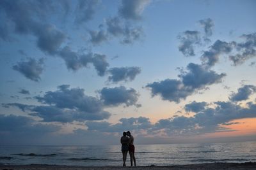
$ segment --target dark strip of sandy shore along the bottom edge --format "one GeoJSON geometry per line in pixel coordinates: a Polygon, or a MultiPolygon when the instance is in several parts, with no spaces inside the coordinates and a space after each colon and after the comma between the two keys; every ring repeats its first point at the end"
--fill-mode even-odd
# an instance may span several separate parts
{"type": "Polygon", "coordinates": [[[54,166],[54,165],[26,165],[12,166],[0,165],[0,170],[106,170],[106,169],[136,169],[136,170],[156,170],[156,169],[256,169],[256,162],[246,163],[209,163],[209,164],[189,164],[179,166],[138,166],[138,167],[82,167],[82,166],[54,166]]]}

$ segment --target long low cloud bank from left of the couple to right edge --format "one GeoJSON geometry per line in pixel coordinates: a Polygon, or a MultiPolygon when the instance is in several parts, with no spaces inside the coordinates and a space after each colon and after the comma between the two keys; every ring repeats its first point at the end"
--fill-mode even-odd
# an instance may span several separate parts
{"type": "MultiPolygon", "coordinates": [[[[195,104],[196,102],[194,102],[195,104]]],[[[202,103],[201,103],[202,104],[202,103]]],[[[88,131],[99,132],[122,132],[122,131],[143,131],[144,134],[159,134],[166,136],[191,136],[211,132],[230,131],[222,125],[230,125],[232,120],[239,118],[255,118],[256,104],[247,103],[246,107],[231,102],[215,102],[209,107],[204,103],[204,108],[193,115],[193,117],[175,116],[161,119],[152,124],[148,118],[121,118],[117,124],[108,122],[86,122],[88,131]]],[[[193,107],[195,108],[195,107],[193,107]]],[[[236,123],[234,123],[236,124],[236,123]]]]}

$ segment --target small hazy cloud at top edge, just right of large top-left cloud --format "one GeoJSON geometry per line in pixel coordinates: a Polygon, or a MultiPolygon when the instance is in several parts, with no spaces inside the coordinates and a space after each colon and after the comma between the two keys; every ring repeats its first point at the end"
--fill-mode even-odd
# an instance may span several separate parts
{"type": "Polygon", "coordinates": [[[92,20],[99,0],[79,0],[76,8],[76,23],[82,24],[92,20]]]}

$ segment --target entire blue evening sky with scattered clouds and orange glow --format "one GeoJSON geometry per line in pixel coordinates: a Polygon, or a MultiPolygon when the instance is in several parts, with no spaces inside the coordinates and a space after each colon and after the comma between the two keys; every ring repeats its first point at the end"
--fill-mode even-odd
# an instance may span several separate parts
{"type": "Polygon", "coordinates": [[[1,145],[256,140],[256,1],[0,1],[1,145]]]}

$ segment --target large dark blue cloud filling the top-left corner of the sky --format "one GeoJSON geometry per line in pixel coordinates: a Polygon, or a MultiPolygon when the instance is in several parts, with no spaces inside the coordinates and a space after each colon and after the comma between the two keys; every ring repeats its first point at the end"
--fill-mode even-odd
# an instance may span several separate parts
{"type": "MultiPolygon", "coordinates": [[[[61,1],[56,1],[60,3],[61,1]]],[[[64,2],[64,1],[63,1],[64,2]]],[[[62,4],[62,3],[61,3],[62,4]]],[[[60,6],[60,4],[58,4],[60,6]]],[[[65,41],[65,34],[54,25],[44,24],[38,20],[45,20],[54,11],[51,1],[1,1],[0,8],[6,17],[15,24],[17,34],[32,34],[36,36],[38,48],[43,52],[54,54],[65,41]]]]}

